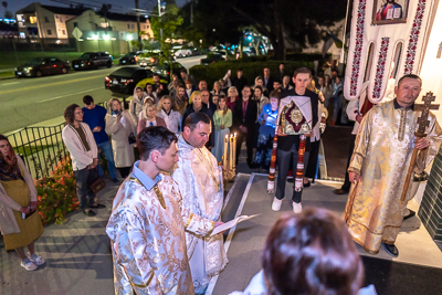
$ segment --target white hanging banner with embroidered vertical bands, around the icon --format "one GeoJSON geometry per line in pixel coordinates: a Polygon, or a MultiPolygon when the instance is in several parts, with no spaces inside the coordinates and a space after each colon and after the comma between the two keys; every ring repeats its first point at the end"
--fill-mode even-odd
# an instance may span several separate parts
{"type": "Polygon", "coordinates": [[[373,13],[378,9],[375,8],[376,2],[379,6],[383,1],[354,0],[344,88],[345,97],[349,101],[359,97],[364,82],[368,81],[368,98],[377,104],[382,99],[391,75],[399,78],[403,74],[420,73],[428,25],[439,0],[401,0],[402,4],[408,3],[402,12],[407,13],[407,22],[390,24],[373,24],[373,13]],[[371,43],[373,49],[370,59],[371,43]],[[402,44],[402,50],[396,55],[399,52],[398,44],[402,44]],[[365,77],[368,60],[371,60],[371,65],[369,75],[365,77]],[[393,61],[396,64],[391,72],[393,61]]]}

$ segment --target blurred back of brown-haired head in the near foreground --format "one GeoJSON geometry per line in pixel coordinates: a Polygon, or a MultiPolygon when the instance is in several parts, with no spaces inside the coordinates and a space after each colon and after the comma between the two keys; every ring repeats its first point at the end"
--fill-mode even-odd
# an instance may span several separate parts
{"type": "Polygon", "coordinates": [[[325,209],[282,215],[262,262],[270,295],[356,295],[364,280],[346,224],[325,209]]]}

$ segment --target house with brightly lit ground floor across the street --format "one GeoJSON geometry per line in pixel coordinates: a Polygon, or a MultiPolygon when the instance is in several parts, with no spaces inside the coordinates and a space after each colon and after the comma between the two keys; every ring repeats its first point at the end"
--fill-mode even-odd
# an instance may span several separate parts
{"type": "MultiPolygon", "coordinates": [[[[150,40],[154,32],[148,18],[140,17],[141,40],[150,40]]],[[[115,12],[86,10],[66,22],[67,33],[76,39],[77,50],[107,51],[125,54],[131,51],[130,41],[137,40],[137,17],[115,12]]]]}

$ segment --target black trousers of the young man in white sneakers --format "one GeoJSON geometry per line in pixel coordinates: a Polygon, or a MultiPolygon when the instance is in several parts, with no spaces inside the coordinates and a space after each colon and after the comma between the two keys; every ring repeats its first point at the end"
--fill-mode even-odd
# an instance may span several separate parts
{"type": "MultiPolygon", "coordinates": [[[[286,178],[287,178],[288,167],[291,164],[292,154],[293,154],[293,169],[294,169],[293,177],[296,178],[298,148],[299,148],[299,145],[297,143],[295,143],[288,151],[277,149],[276,159],[277,159],[278,169],[277,169],[277,185],[276,185],[276,196],[275,197],[278,200],[284,199],[286,178]]],[[[304,173],[305,173],[305,169],[307,167],[308,157],[309,157],[309,151],[305,151],[305,154],[304,154],[304,173]]],[[[301,191],[295,191],[295,185],[296,185],[296,181],[293,181],[292,200],[296,203],[299,203],[301,197],[303,194],[303,188],[301,189],[301,191]]]]}

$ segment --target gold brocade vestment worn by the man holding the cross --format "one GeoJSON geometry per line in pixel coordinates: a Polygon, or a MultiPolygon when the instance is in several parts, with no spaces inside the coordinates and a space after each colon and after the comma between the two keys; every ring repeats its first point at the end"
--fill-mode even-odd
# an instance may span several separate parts
{"type": "MultiPolygon", "coordinates": [[[[407,194],[400,201],[414,148],[414,131],[421,112],[394,108],[393,102],[375,106],[364,117],[355,141],[348,171],[361,176],[350,190],[344,220],[355,242],[371,254],[380,244],[393,244],[402,225],[407,194]]],[[[423,170],[436,155],[441,128],[433,114],[427,127],[430,146],[418,155],[423,170]]]]}

